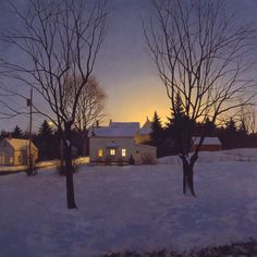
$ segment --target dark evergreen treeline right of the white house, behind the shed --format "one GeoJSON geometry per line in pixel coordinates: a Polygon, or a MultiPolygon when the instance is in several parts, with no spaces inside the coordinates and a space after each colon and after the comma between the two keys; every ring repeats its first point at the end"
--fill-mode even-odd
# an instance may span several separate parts
{"type": "Polygon", "coordinates": [[[201,136],[205,133],[205,136],[219,137],[222,143],[222,149],[257,147],[257,134],[249,133],[244,122],[238,124],[238,122],[236,123],[231,118],[222,126],[217,126],[210,123],[209,120],[195,123],[180,115],[180,111],[176,114],[172,113],[171,118],[168,118],[168,122],[162,125],[160,117],[155,112],[151,120],[152,132],[149,144],[157,147],[158,157],[180,152],[178,142],[179,130],[181,126],[188,124],[193,127],[193,136],[201,136]]]}

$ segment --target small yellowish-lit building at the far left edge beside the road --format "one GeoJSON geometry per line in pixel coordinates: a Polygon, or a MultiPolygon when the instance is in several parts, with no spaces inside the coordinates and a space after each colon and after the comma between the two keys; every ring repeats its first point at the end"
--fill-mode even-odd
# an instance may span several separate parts
{"type": "MultiPolygon", "coordinates": [[[[20,138],[3,138],[0,142],[0,164],[21,166],[26,164],[29,155],[29,140],[20,138]]],[[[32,143],[33,162],[38,159],[38,149],[32,143]]]]}

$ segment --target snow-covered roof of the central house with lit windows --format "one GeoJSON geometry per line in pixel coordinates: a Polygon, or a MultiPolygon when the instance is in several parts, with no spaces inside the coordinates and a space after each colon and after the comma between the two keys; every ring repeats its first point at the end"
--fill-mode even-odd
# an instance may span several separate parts
{"type": "Polygon", "coordinates": [[[134,137],[139,130],[139,122],[111,122],[109,126],[94,127],[89,136],[134,137]]]}

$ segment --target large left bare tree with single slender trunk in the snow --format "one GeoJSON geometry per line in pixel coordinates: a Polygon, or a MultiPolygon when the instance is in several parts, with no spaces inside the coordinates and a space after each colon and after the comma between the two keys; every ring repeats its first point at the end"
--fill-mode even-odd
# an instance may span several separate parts
{"type": "MultiPolygon", "coordinates": [[[[27,0],[24,14],[12,4],[22,29],[1,33],[1,40],[24,58],[1,60],[1,72],[20,86],[32,87],[50,109],[44,111],[34,101],[36,112],[56,124],[64,146],[68,208],[76,208],[72,172],[71,127],[76,121],[79,97],[91,76],[105,37],[103,0],[27,0]],[[77,81],[79,77],[79,81],[77,81]],[[72,98],[68,81],[73,81],[72,98]],[[68,105],[69,99],[69,105],[68,105]]],[[[8,89],[8,94],[17,93],[8,89]]],[[[23,94],[19,94],[24,97],[23,94]]],[[[14,110],[15,111],[15,110],[14,110]]]]}

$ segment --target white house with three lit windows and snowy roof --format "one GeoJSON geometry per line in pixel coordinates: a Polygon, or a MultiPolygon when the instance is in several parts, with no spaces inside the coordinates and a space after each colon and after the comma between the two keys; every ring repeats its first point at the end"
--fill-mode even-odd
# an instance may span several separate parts
{"type": "Polygon", "coordinates": [[[138,144],[139,122],[112,122],[89,133],[89,157],[95,163],[156,163],[156,147],[138,144]]]}

